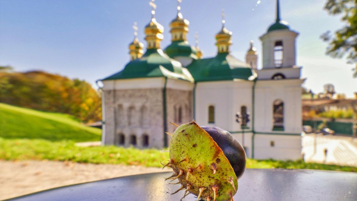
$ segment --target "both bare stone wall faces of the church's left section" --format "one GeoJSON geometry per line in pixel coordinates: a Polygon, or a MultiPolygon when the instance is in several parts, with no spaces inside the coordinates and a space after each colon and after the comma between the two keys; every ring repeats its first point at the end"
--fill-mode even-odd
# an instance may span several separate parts
{"type": "MultiPolygon", "coordinates": [[[[176,129],[170,122],[192,121],[192,91],[168,88],[166,100],[167,132],[176,129]]],[[[162,88],[105,90],[105,115],[106,145],[128,147],[135,145],[136,138],[138,148],[164,147],[162,88]],[[145,135],[149,137],[148,146],[145,146],[145,135]]],[[[167,144],[169,141],[167,136],[167,144]]]]}

